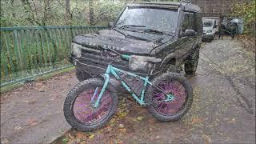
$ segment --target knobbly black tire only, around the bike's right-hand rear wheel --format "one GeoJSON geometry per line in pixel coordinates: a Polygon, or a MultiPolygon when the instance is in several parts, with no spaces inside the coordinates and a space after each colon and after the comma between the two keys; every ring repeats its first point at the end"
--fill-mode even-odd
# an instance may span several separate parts
{"type": "Polygon", "coordinates": [[[154,104],[153,102],[153,92],[154,92],[154,87],[149,86],[147,93],[146,93],[146,102],[151,103],[150,105],[147,106],[147,109],[149,110],[150,114],[154,116],[154,118],[158,119],[161,122],[173,122],[177,121],[178,119],[182,118],[183,115],[187,113],[188,110],[190,110],[190,107],[193,102],[193,89],[190,83],[187,81],[185,77],[183,77],[181,74],[177,73],[164,73],[160,75],[157,78],[154,78],[152,81],[154,86],[158,85],[158,82],[165,81],[166,79],[174,79],[177,80],[178,82],[182,83],[183,87],[186,90],[186,103],[185,106],[183,106],[182,110],[178,111],[178,113],[174,115],[162,115],[159,114],[157,110],[154,109],[154,104]]]}

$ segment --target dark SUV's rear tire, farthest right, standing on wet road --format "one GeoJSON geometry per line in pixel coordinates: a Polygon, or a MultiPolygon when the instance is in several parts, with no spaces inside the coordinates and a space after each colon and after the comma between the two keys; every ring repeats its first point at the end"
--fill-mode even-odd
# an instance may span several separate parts
{"type": "Polygon", "coordinates": [[[186,74],[195,74],[198,67],[199,52],[199,48],[197,48],[194,53],[189,56],[188,61],[185,62],[184,70],[186,74]]]}

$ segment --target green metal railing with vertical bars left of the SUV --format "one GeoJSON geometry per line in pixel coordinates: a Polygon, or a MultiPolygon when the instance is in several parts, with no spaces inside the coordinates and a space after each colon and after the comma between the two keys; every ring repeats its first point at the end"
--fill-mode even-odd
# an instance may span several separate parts
{"type": "Polygon", "coordinates": [[[106,26],[1,27],[1,87],[71,66],[71,39],[106,26]]]}

